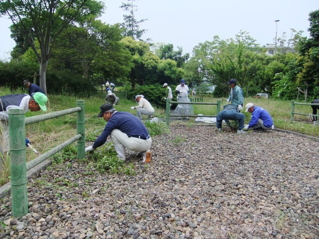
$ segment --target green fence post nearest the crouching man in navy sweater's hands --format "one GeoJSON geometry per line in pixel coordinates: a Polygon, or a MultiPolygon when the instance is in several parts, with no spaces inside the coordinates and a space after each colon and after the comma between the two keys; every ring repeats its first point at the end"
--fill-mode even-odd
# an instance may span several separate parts
{"type": "Polygon", "coordinates": [[[85,114],[84,101],[76,101],[76,106],[82,110],[76,113],[76,132],[82,134],[82,137],[77,140],[77,157],[78,159],[85,158],[85,114]]]}

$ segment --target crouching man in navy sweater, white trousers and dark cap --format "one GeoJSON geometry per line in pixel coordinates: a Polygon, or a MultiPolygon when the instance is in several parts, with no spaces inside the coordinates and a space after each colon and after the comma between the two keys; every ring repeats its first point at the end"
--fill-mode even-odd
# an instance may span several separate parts
{"type": "Polygon", "coordinates": [[[140,152],[143,155],[143,162],[151,161],[152,138],[140,119],[128,112],[117,112],[112,104],[101,106],[97,117],[103,117],[107,124],[101,135],[92,146],[85,149],[85,152],[102,146],[110,136],[119,158],[125,160],[125,148],[128,148],[140,152]]]}

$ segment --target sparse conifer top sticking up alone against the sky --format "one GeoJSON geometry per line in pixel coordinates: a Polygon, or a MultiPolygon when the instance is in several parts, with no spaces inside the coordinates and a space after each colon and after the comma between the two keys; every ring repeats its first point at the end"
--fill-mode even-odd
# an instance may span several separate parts
{"type": "Polygon", "coordinates": [[[128,11],[128,15],[123,15],[124,22],[121,26],[124,28],[123,35],[131,36],[135,40],[141,40],[142,35],[146,32],[146,29],[141,29],[140,24],[148,19],[137,20],[135,12],[138,10],[137,6],[134,5],[135,0],[128,0],[128,3],[122,2],[120,6],[125,11],[128,11]]]}

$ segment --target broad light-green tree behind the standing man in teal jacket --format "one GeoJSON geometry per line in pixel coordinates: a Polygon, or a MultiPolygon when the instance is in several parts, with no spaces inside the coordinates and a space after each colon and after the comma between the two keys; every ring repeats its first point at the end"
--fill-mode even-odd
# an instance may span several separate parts
{"type": "Polygon", "coordinates": [[[245,31],[240,31],[235,39],[221,40],[215,36],[213,41],[194,47],[194,56],[186,64],[187,77],[195,79],[197,85],[210,82],[217,86],[217,91],[223,90],[227,94],[227,83],[232,78],[242,87],[248,85],[252,78],[248,75],[248,68],[254,60],[250,52],[260,51],[259,45],[245,31]]]}

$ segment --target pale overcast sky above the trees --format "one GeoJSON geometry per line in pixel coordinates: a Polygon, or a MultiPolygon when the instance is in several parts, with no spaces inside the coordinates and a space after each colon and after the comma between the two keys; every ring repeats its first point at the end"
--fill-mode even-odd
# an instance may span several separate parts
{"type": "MultiPolygon", "coordinates": [[[[108,24],[123,22],[125,12],[121,6],[127,0],[104,0],[106,10],[101,20],[108,24]]],[[[234,38],[247,31],[260,45],[272,44],[291,28],[304,31],[309,37],[309,13],[319,9],[319,0],[135,0],[136,19],[147,29],[143,39],[154,43],[171,43],[183,52],[191,53],[200,42],[211,41],[215,35],[221,39],[234,38]]],[[[0,59],[9,57],[15,45],[10,38],[10,20],[0,18],[0,59]]]]}

